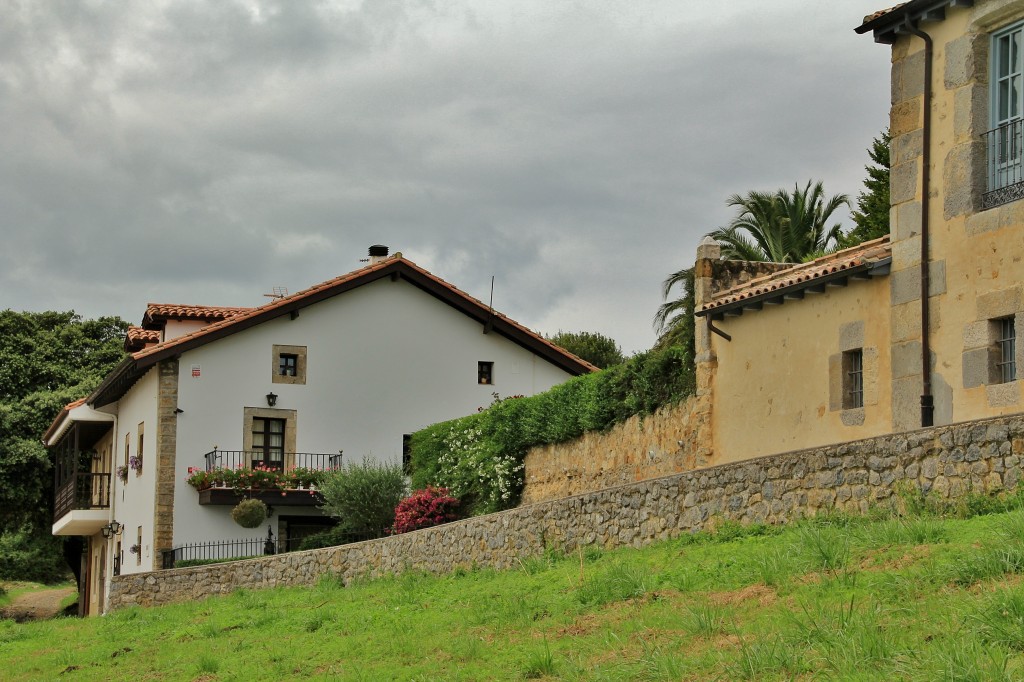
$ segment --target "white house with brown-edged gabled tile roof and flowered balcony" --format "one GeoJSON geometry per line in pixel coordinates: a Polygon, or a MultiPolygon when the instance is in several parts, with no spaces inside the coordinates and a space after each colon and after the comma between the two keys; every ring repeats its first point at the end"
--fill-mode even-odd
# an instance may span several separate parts
{"type": "MultiPolygon", "coordinates": [[[[492,392],[531,395],[595,369],[386,254],[259,307],[147,307],[130,354],[44,436],[57,453],[53,532],[88,539],[85,612],[102,610],[116,572],[159,569],[187,544],[266,537],[232,522],[233,491],[187,484],[191,468],[327,468],[342,453],[398,463],[408,434],[492,392]]],[[[262,497],[276,537],[325,524],[308,493],[262,497]]]]}

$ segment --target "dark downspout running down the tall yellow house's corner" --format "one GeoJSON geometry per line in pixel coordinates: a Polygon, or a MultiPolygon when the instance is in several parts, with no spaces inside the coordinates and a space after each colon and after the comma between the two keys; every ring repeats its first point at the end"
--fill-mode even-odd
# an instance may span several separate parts
{"type": "Polygon", "coordinates": [[[930,315],[928,312],[928,205],[929,205],[929,169],[931,167],[932,137],[932,38],[927,33],[913,26],[909,17],[904,23],[906,31],[925,41],[925,113],[922,121],[922,171],[921,171],[921,374],[923,388],[921,393],[921,426],[932,426],[935,423],[935,399],[932,395],[932,350],[929,343],[928,328],[930,315]]]}

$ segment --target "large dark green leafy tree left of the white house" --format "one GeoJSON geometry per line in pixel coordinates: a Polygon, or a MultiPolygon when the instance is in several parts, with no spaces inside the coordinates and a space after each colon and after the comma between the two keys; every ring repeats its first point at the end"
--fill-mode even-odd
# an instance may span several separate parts
{"type": "Polygon", "coordinates": [[[50,538],[52,467],[41,438],[65,404],[121,360],[127,329],[117,317],[83,319],[74,311],[0,311],[0,574],[33,578],[19,572],[35,569],[18,556],[39,555],[40,547],[59,560],[50,538]]]}

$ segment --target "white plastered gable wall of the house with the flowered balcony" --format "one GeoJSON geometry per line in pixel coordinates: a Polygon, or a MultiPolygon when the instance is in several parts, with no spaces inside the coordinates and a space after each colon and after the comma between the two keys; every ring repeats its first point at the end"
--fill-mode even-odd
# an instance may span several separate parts
{"type": "MultiPolygon", "coordinates": [[[[228,507],[198,504],[184,483],[213,449],[243,447],[243,408],[295,410],[296,450],[400,462],[402,434],[475,413],[502,396],[547,390],[569,374],[404,282],[378,281],[182,354],[179,360],[174,544],[264,537],[245,530],[228,507]],[[273,344],[307,347],[305,385],[272,383],[273,344]],[[477,361],[495,364],[477,384],[477,361]],[[201,376],[194,378],[194,366],[201,376]]],[[[130,420],[127,423],[131,423],[130,420]]],[[[152,505],[151,505],[152,506],[152,505]]],[[[307,514],[307,508],[279,508],[307,514]]]]}

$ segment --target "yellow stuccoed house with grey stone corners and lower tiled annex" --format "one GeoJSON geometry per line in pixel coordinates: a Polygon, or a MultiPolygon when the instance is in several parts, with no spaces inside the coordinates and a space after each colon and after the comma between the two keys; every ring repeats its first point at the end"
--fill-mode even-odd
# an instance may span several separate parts
{"type": "Polygon", "coordinates": [[[697,251],[715,462],[1018,413],[1024,2],[911,0],[892,49],[888,239],[798,265],[697,251]]]}

